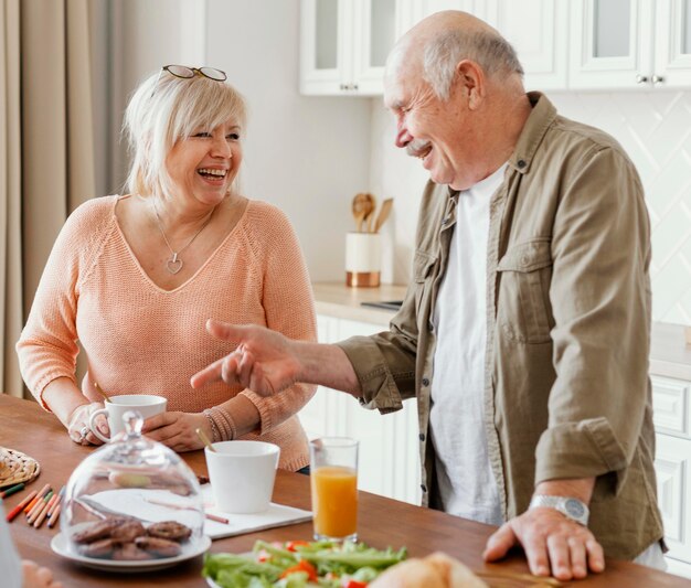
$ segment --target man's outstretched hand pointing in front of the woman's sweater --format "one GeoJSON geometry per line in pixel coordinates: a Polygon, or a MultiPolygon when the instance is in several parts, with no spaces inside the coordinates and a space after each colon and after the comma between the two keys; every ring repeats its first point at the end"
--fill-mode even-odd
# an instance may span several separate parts
{"type": "Polygon", "coordinates": [[[226,384],[270,396],[297,382],[299,361],[291,341],[264,327],[233,325],[209,320],[206,330],[223,341],[237,342],[237,349],[212,363],[191,379],[193,388],[223,379],[226,384]]]}

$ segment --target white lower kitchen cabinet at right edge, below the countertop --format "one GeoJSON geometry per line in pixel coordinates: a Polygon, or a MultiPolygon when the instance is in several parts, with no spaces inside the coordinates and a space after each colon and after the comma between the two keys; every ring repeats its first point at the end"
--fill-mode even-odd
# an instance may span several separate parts
{"type": "Polygon", "coordinates": [[[658,504],[669,571],[691,578],[691,382],[651,376],[658,504]]]}

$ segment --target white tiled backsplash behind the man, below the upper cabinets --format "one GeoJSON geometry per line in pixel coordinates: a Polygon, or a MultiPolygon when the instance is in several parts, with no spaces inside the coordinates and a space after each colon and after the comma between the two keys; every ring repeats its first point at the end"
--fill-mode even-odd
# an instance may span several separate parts
{"type": "MultiPolygon", "coordinates": [[[[560,114],[613,135],[636,163],[652,225],[653,320],[691,324],[691,92],[555,93],[550,99],[560,114]]],[[[426,177],[419,162],[395,152],[392,118],[373,101],[371,169],[378,175],[371,183],[383,197],[396,197],[387,233],[396,253],[382,278],[407,281],[426,177]]]]}

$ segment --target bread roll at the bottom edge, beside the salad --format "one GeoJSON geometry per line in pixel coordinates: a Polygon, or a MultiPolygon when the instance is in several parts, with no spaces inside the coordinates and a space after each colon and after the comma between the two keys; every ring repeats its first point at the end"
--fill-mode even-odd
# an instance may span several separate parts
{"type": "Polygon", "coordinates": [[[390,567],[370,588],[487,588],[458,559],[442,552],[424,559],[411,558],[390,567]]]}

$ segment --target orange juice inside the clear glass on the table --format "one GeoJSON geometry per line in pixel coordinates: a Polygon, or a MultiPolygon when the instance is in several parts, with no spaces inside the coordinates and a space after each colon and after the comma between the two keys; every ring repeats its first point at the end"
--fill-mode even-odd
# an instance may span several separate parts
{"type": "Polygon", "coordinates": [[[311,471],[315,533],[343,538],[358,528],[358,473],[352,468],[321,466],[311,471]]]}

